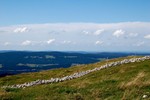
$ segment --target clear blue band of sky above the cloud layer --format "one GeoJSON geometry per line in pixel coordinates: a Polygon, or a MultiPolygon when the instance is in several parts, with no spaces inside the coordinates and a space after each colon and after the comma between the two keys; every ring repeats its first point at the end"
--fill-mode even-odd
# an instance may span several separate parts
{"type": "Polygon", "coordinates": [[[1,0],[0,25],[150,21],[150,0],[1,0]]]}

